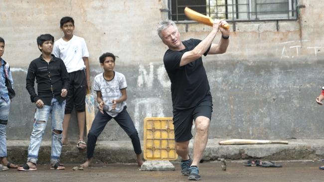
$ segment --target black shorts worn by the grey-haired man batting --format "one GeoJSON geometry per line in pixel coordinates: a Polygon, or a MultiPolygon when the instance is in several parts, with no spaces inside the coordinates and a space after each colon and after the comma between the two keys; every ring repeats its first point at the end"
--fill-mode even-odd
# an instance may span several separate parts
{"type": "Polygon", "coordinates": [[[189,109],[173,109],[173,125],[175,142],[185,142],[192,138],[192,121],[198,116],[211,119],[213,111],[212,97],[206,95],[195,107],[189,109]]]}

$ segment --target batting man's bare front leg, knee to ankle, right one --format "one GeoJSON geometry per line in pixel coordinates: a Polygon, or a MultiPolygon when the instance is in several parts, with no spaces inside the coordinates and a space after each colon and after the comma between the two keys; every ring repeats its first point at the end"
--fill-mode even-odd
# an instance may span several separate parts
{"type": "Polygon", "coordinates": [[[193,160],[191,166],[199,165],[208,140],[209,118],[198,116],[195,120],[196,134],[193,141],[193,160]]]}

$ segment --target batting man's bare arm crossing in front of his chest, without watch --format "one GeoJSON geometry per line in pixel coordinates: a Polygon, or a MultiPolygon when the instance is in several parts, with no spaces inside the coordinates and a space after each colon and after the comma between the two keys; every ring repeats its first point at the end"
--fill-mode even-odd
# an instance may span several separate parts
{"type": "Polygon", "coordinates": [[[185,52],[180,61],[180,66],[184,66],[198,58],[200,58],[209,48],[212,41],[214,40],[220,24],[226,23],[226,21],[214,20],[213,28],[211,32],[204,38],[194,49],[185,52]]]}

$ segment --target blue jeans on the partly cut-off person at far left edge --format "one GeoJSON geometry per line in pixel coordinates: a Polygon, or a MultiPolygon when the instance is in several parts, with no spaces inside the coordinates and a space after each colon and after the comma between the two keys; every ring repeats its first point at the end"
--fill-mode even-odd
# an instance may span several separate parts
{"type": "Polygon", "coordinates": [[[8,121],[10,100],[6,102],[0,97],[0,157],[7,157],[7,143],[5,128],[8,121]]]}

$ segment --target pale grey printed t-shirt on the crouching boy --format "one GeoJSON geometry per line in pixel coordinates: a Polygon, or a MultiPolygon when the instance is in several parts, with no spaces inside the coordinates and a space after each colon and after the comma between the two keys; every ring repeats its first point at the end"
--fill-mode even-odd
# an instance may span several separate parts
{"type": "Polygon", "coordinates": [[[104,111],[112,117],[116,117],[121,111],[123,111],[126,102],[116,104],[116,109],[112,109],[112,100],[118,99],[122,96],[122,89],[127,88],[125,76],[122,73],[115,72],[115,76],[112,80],[106,80],[104,73],[101,73],[95,77],[94,89],[95,91],[101,91],[102,99],[105,102],[104,111]]]}

